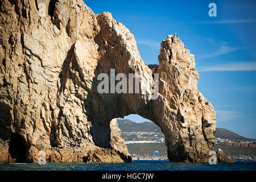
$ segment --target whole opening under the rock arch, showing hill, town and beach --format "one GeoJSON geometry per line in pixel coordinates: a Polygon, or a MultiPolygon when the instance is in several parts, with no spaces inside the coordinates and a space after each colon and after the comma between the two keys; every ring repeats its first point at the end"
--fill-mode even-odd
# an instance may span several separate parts
{"type": "Polygon", "coordinates": [[[164,135],[154,122],[138,114],[130,114],[117,118],[117,123],[134,160],[168,160],[164,135]]]}

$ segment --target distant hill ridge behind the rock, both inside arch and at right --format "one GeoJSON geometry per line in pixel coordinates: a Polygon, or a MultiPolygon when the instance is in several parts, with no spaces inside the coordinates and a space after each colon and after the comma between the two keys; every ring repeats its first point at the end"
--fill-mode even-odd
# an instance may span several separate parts
{"type": "MultiPolygon", "coordinates": [[[[123,132],[141,131],[141,132],[155,132],[162,133],[160,127],[155,125],[153,122],[135,123],[130,119],[117,119],[119,129],[123,132]]],[[[229,140],[255,140],[250,138],[242,137],[232,131],[217,128],[215,136],[222,139],[229,140]]]]}

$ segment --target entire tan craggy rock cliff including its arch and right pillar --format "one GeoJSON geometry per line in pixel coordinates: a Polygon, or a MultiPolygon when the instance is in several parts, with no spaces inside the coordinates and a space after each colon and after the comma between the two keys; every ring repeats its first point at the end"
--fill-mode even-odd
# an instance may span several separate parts
{"type": "Polygon", "coordinates": [[[41,150],[49,162],[131,162],[114,119],[129,114],[161,128],[170,161],[208,161],[215,112],[176,34],[163,40],[159,65],[147,66],[129,30],[83,1],[1,1],[0,22],[0,163],[17,160],[15,138],[26,162],[37,162],[41,150]],[[152,85],[158,73],[158,99],[150,91],[98,93],[97,76],[110,68],[144,73],[152,85]]]}

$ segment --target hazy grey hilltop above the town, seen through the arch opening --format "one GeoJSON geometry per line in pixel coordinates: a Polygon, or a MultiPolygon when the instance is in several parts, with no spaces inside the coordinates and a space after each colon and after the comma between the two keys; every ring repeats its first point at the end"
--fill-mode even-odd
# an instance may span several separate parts
{"type": "Polygon", "coordinates": [[[117,123],[119,129],[121,129],[123,132],[141,131],[162,133],[160,127],[155,125],[153,122],[135,123],[130,119],[117,119],[117,123]]]}

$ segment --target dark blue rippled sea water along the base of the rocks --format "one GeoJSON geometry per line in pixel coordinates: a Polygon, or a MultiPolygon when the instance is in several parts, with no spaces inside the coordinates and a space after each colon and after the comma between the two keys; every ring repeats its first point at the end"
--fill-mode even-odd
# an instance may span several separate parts
{"type": "Polygon", "coordinates": [[[235,163],[173,163],[168,160],[134,160],[133,163],[13,163],[0,165],[0,170],[18,171],[256,171],[256,161],[235,163]]]}

